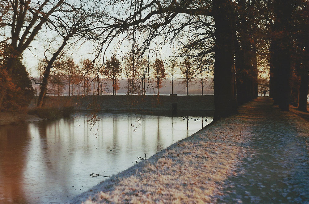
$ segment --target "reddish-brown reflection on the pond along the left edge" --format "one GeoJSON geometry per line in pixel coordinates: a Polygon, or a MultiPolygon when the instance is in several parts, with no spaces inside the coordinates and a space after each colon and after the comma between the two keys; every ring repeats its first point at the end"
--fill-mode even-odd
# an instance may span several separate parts
{"type": "Polygon", "coordinates": [[[24,192],[24,168],[27,166],[30,137],[28,124],[0,129],[0,194],[3,203],[28,203],[24,192]]]}

